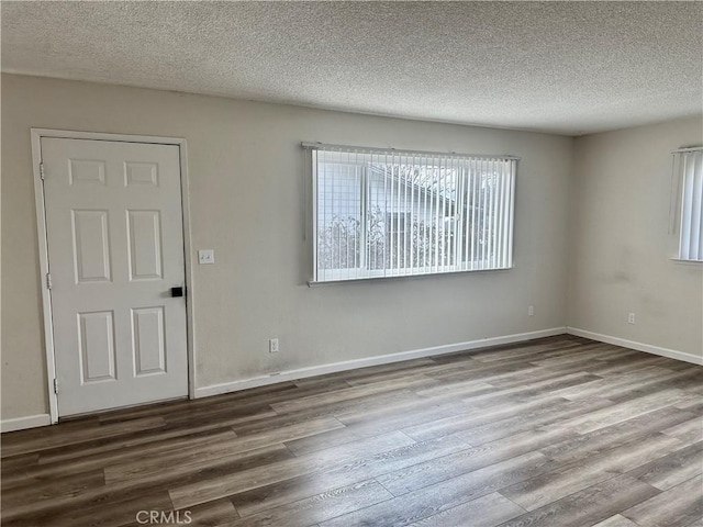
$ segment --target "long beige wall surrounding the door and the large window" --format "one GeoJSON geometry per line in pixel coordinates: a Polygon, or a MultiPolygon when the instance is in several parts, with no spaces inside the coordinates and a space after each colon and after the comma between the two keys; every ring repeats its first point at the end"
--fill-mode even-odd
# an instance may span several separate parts
{"type": "Polygon", "coordinates": [[[32,126],[188,141],[198,386],[566,324],[571,138],[4,75],[2,418],[47,411],[32,126]],[[301,141],[522,156],[515,268],[308,288],[301,141]]]}

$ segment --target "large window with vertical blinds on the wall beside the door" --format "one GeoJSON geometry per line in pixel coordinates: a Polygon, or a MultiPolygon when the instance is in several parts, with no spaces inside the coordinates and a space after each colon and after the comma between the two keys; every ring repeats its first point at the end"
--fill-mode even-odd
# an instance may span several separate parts
{"type": "Polygon", "coordinates": [[[512,267],[516,158],[305,146],[313,281],[512,267]]]}

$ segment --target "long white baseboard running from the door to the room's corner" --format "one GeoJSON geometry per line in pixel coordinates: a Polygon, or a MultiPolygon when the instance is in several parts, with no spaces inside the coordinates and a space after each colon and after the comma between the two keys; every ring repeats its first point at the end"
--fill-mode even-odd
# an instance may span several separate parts
{"type": "Polygon", "coordinates": [[[365,359],[346,360],[344,362],[334,362],[331,365],[313,366],[309,368],[300,368],[298,370],[289,370],[270,375],[255,377],[253,379],[244,379],[241,381],[224,382],[222,384],[213,384],[196,389],[196,399],[208,397],[210,395],[219,395],[222,393],[236,392],[247,390],[249,388],[265,386],[276,384],[277,382],[292,381],[295,379],[305,379],[308,377],[324,375],[325,373],[335,373],[337,371],[356,370],[358,368],[367,368],[369,366],[389,365],[391,362],[400,362],[403,360],[421,359],[424,357],[433,357],[437,355],[454,354],[457,351],[466,351],[469,349],[484,348],[488,346],[499,346],[503,344],[521,343],[523,340],[532,340],[534,338],[551,337],[567,333],[566,327],[553,327],[549,329],[540,329],[538,332],[518,333],[514,335],[505,335],[502,337],[489,337],[478,340],[469,340],[468,343],[447,344],[443,346],[434,346],[431,348],[414,349],[411,351],[400,351],[398,354],[380,355],[378,357],[368,357],[365,359]]]}

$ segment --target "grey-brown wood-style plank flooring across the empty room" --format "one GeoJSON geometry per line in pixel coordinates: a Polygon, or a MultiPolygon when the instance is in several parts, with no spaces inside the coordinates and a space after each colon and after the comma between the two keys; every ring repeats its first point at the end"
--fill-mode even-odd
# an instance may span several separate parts
{"type": "Polygon", "coordinates": [[[2,526],[702,527],[702,413],[563,335],[4,434],[2,526]]]}

